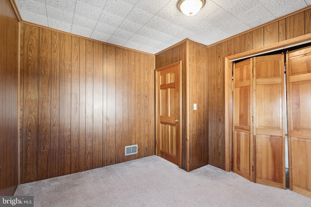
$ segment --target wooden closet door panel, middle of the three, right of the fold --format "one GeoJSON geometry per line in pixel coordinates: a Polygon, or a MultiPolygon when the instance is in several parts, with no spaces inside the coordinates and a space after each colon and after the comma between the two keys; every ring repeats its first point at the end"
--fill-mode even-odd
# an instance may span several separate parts
{"type": "Polygon", "coordinates": [[[286,189],[284,54],[254,58],[254,182],[286,189]]]}

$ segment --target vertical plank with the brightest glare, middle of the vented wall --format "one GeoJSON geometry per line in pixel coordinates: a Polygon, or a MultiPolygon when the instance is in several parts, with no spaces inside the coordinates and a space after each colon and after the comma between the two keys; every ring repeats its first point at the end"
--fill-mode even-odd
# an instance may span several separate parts
{"type": "Polygon", "coordinates": [[[103,44],[94,42],[93,50],[93,168],[97,168],[103,166],[103,44]]]}

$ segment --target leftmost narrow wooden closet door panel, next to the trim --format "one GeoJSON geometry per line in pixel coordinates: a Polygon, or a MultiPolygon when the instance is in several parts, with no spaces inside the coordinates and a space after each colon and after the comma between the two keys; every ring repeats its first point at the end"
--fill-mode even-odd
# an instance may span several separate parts
{"type": "Polygon", "coordinates": [[[233,68],[232,171],[250,181],[253,181],[252,68],[252,58],[234,64],[233,68]]]}

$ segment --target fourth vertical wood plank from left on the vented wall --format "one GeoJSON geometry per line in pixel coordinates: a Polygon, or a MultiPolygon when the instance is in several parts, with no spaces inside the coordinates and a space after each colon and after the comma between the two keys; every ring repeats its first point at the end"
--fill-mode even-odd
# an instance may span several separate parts
{"type": "Polygon", "coordinates": [[[60,34],[59,175],[70,174],[71,36],[60,34]]]}

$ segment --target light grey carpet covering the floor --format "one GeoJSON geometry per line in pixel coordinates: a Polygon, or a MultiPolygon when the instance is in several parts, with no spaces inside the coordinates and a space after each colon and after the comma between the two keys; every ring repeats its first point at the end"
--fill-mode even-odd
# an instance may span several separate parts
{"type": "Polygon", "coordinates": [[[311,207],[294,191],[249,182],[207,165],[191,172],[149,156],[19,185],[35,207],[311,207]]]}

